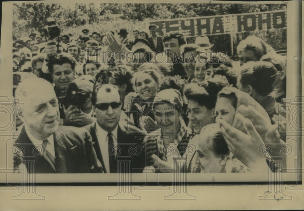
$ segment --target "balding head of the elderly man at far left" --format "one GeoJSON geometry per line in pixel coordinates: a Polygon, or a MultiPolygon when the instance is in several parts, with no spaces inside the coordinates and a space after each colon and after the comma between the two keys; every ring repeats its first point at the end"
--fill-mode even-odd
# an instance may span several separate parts
{"type": "Polygon", "coordinates": [[[27,78],[18,85],[15,94],[19,103],[24,103],[21,116],[26,122],[27,133],[44,140],[58,129],[58,100],[50,82],[42,78],[27,78]]]}

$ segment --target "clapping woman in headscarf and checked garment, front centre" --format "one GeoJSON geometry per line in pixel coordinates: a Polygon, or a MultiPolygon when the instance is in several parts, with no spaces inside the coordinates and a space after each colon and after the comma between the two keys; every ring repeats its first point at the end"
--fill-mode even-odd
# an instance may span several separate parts
{"type": "Polygon", "coordinates": [[[152,135],[146,136],[148,165],[157,172],[185,171],[173,168],[175,158],[186,158],[186,148],[192,131],[181,117],[183,100],[176,89],[165,89],[157,93],[152,109],[156,126],[152,135]]]}

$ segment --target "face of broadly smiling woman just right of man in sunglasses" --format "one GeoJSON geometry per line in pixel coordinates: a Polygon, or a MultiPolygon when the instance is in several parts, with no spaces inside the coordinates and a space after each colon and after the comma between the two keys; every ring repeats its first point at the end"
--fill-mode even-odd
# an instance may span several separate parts
{"type": "Polygon", "coordinates": [[[144,98],[155,96],[157,93],[158,83],[156,83],[148,73],[141,73],[136,78],[135,86],[139,97],[143,100],[144,98]]]}

